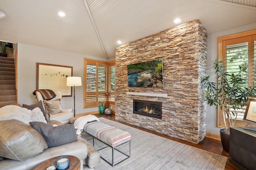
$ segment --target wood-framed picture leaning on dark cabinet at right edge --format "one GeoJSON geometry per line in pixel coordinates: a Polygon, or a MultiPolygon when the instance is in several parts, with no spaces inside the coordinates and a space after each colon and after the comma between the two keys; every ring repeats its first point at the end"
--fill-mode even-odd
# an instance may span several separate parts
{"type": "Polygon", "coordinates": [[[244,121],[256,124],[256,100],[249,99],[244,113],[244,121]]]}

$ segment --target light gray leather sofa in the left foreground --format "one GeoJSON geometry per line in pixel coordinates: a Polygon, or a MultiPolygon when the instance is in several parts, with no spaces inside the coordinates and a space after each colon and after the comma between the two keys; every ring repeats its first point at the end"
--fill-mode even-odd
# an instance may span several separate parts
{"type": "MultiPolygon", "coordinates": [[[[5,120],[3,120],[3,118],[2,120],[0,119],[0,169],[32,170],[41,162],[62,155],[72,155],[79,158],[81,170],[94,169],[96,165],[100,164],[99,152],[88,141],[81,137],[74,137],[74,135],[71,134],[73,139],[68,140],[73,141],[67,141],[68,143],[65,144],[60,143],[61,145],[58,145],[61,139],[58,140],[54,137],[52,138],[54,139],[52,142],[54,142],[56,146],[49,148],[47,140],[51,139],[45,139],[45,135],[41,134],[40,130],[38,131],[38,129],[34,129],[31,125],[12,118],[13,117],[6,119],[6,117],[4,117],[5,120]]],[[[19,119],[18,116],[17,119],[19,119]]],[[[74,127],[74,125],[63,125],[56,120],[49,121],[45,124],[39,122],[38,124],[47,126],[54,125],[50,127],[50,129],[56,129],[56,125],[58,125],[58,129],[62,127],[69,129],[71,128],[70,126],[74,127]]],[[[63,137],[65,137],[65,133],[63,137]]]]}

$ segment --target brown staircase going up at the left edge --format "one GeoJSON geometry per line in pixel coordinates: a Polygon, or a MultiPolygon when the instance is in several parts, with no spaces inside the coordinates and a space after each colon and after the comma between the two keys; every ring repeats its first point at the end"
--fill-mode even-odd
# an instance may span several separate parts
{"type": "Polygon", "coordinates": [[[0,57],[0,107],[17,103],[14,59],[0,57]]]}

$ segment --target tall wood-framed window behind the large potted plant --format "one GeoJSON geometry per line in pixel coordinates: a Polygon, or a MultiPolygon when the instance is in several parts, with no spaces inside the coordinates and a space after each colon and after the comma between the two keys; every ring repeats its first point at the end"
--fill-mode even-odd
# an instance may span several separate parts
{"type": "MultiPolygon", "coordinates": [[[[248,74],[245,75],[246,86],[256,83],[256,30],[228,35],[218,38],[219,61],[223,64],[227,72],[236,74],[239,66],[247,66],[248,74]]],[[[235,125],[243,126],[242,121],[246,107],[238,110],[235,125]]],[[[218,127],[222,127],[222,114],[218,108],[218,127]]]]}

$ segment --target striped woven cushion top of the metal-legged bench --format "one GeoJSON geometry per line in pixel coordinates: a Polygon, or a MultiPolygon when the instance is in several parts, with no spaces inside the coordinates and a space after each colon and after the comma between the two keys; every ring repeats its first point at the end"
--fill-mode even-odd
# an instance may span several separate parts
{"type": "Polygon", "coordinates": [[[86,123],[84,125],[84,131],[111,147],[115,147],[131,139],[130,133],[99,121],[86,123]]]}

